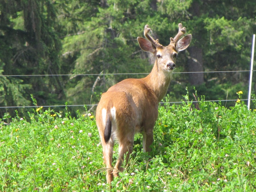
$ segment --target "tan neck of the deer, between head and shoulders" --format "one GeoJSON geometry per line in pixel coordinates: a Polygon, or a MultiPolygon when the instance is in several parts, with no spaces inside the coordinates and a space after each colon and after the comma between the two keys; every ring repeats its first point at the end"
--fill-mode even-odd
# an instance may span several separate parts
{"type": "Polygon", "coordinates": [[[155,61],[154,67],[150,74],[143,78],[146,84],[156,94],[158,101],[161,101],[170,85],[172,79],[172,72],[163,71],[159,68],[157,60],[155,61]]]}

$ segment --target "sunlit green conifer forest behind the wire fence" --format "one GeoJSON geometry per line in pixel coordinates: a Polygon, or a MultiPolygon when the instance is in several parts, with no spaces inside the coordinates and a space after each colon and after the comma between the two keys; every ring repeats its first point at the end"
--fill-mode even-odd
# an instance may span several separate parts
{"type": "Polygon", "coordinates": [[[177,58],[170,101],[186,87],[205,100],[237,99],[240,90],[246,97],[255,7],[255,0],[0,0],[0,118],[26,116],[31,94],[38,106],[97,104],[113,84],[145,77],[154,59],[137,37],[146,24],[163,45],[178,23],[192,34],[177,58]]]}

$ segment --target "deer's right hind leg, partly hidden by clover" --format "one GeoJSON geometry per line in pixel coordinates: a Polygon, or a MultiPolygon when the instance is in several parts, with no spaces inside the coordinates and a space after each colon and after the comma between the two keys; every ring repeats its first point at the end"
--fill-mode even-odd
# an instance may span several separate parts
{"type": "Polygon", "coordinates": [[[126,154],[125,162],[126,164],[128,163],[130,154],[132,153],[132,149],[133,149],[134,132],[135,132],[135,129],[131,130],[131,132],[126,133],[123,137],[119,138],[119,149],[118,149],[119,156],[113,170],[114,177],[117,177],[119,172],[124,171],[122,164],[124,162],[125,154],[126,154]]]}

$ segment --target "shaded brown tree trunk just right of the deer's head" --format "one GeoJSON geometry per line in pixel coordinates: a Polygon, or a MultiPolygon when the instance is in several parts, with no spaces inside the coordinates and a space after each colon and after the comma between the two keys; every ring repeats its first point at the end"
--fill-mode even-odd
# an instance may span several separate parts
{"type": "MultiPolygon", "coordinates": [[[[190,57],[188,60],[188,72],[203,72],[203,52],[201,48],[192,46],[188,49],[190,57]]],[[[191,85],[200,85],[204,83],[203,73],[189,73],[189,82],[191,85]]]]}

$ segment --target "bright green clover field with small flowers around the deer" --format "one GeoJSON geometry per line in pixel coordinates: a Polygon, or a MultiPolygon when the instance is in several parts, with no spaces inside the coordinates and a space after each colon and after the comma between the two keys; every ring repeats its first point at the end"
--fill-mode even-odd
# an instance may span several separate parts
{"type": "Polygon", "coordinates": [[[195,108],[188,95],[160,105],[152,152],[136,135],[112,189],[95,114],[38,107],[30,119],[17,115],[0,123],[0,191],[256,191],[256,111],[237,94],[230,108],[204,97],[195,108]]]}

